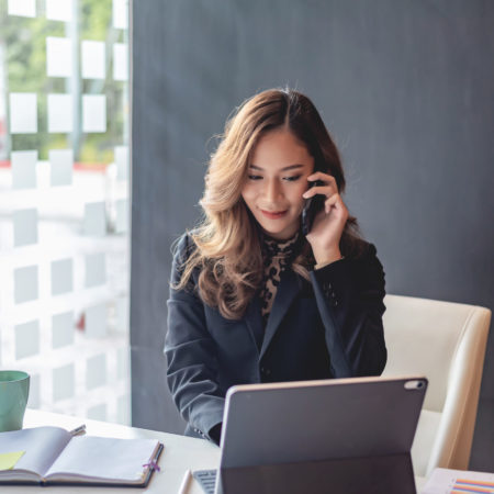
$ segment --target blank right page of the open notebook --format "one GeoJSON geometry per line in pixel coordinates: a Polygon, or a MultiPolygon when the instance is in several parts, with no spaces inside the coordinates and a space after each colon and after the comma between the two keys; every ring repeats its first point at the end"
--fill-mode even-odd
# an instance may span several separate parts
{"type": "Polygon", "coordinates": [[[154,456],[155,439],[74,437],[46,474],[49,480],[94,479],[139,483],[147,473],[143,467],[154,456]]]}

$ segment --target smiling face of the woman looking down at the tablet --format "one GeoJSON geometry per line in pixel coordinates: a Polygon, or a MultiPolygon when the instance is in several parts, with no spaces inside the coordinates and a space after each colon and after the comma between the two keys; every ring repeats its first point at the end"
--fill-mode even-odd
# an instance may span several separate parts
{"type": "Polygon", "coordinates": [[[290,131],[273,130],[254,148],[242,190],[247,207],[271,237],[288,239],[300,228],[300,215],[314,158],[290,131]]]}

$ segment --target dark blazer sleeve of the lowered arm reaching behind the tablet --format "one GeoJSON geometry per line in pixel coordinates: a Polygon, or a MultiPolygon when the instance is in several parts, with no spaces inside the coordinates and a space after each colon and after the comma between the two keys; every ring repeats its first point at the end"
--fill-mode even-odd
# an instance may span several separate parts
{"type": "MultiPolygon", "coordinates": [[[[191,240],[183,235],[173,257],[171,284],[178,283],[191,240]]],[[[203,437],[223,420],[224,393],[216,381],[216,347],[204,317],[193,277],[184,290],[170,288],[165,338],[167,380],[182,417],[203,437]]]]}

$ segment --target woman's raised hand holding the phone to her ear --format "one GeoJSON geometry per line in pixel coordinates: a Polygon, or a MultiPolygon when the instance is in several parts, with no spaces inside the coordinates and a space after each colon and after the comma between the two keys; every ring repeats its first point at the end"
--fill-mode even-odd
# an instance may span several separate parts
{"type": "Polygon", "coordinates": [[[333,262],[341,258],[339,240],[347,223],[348,210],[338,193],[334,177],[316,171],[307,177],[307,180],[310,182],[321,180],[323,186],[311,187],[302,194],[303,198],[308,199],[315,194],[324,194],[326,201],[324,209],[316,214],[306,238],[317,263],[333,262]]]}

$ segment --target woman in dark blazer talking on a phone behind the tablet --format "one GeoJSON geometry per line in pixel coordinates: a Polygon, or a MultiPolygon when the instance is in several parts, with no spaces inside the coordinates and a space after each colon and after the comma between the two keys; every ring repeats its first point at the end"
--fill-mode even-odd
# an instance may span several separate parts
{"type": "Polygon", "coordinates": [[[336,146],[300,92],[263,91],[226,123],[168,300],[168,384],[187,435],[220,442],[234,384],[384,369],[384,272],[344,189],[336,146]],[[324,206],[304,236],[302,210],[316,194],[324,206]]]}

